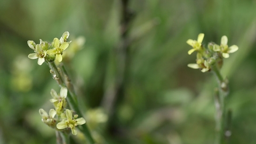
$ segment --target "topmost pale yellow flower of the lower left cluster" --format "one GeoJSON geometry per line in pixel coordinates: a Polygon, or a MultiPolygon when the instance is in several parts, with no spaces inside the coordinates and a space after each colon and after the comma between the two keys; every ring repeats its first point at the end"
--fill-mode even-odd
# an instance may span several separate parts
{"type": "Polygon", "coordinates": [[[61,110],[62,106],[66,107],[66,98],[67,98],[68,89],[67,87],[61,87],[60,94],[58,94],[55,90],[51,90],[51,95],[53,99],[50,101],[53,103],[57,112],[61,110]],[[60,103],[61,102],[61,103],[60,103]]]}

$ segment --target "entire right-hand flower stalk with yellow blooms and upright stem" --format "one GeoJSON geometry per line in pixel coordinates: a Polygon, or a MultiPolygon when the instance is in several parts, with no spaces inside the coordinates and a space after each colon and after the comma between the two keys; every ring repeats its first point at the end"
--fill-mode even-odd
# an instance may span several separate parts
{"type": "Polygon", "coordinates": [[[228,129],[227,134],[225,130],[226,122],[230,123],[229,120],[226,121],[226,108],[225,108],[225,98],[229,93],[228,89],[228,81],[223,78],[220,73],[220,68],[223,64],[223,59],[229,58],[229,53],[234,53],[238,50],[237,45],[228,46],[228,38],[227,36],[221,37],[221,44],[209,43],[207,47],[205,47],[203,42],[204,34],[199,34],[197,41],[188,39],[187,44],[193,47],[193,49],[188,51],[190,55],[193,52],[197,52],[196,63],[188,64],[188,67],[194,69],[200,69],[203,73],[206,71],[212,71],[218,81],[218,88],[214,90],[214,103],[215,103],[215,144],[220,144],[223,141],[224,136],[228,135],[230,137],[231,132],[228,129]]]}

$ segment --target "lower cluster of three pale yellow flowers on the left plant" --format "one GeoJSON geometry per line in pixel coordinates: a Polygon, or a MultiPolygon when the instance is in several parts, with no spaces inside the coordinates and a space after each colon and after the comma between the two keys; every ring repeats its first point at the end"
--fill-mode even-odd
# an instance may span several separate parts
{"type": "Polygon", "coordinates": [[[53,129],[62,131],[70,131],[71,129],[72,134],[76,135],[76,126],[85,124],[85,119],[83,117],[78,118],[78,115],[73,117],[71,110],[67,108],[67,92],[67,87],[61,87],[59,94],[52,89],[50,101],[55,109],[50,109],[49,115],[44,109],[39,109],[39,114],[42,116],[42,122],[53,129]]]}

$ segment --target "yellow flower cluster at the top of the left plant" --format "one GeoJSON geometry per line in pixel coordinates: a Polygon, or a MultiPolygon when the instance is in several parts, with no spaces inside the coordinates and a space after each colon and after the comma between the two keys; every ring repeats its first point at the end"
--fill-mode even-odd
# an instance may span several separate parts
{"type": "Polygon", "coordinates": [[[35,53],[30,53],[28,55],[29,59],[38,59],[38,65],[42,65],[45,60],[53,61],[62,61],[62,52],[65,51],[70,42],[67,42],[69,37],[68,31],[63,33],[60,39],[54,38],[52,43],[47,43],[40,39],[40,43],[36,44],[34,41],[28,41],[28,46],[34,50],[35,53]]]}

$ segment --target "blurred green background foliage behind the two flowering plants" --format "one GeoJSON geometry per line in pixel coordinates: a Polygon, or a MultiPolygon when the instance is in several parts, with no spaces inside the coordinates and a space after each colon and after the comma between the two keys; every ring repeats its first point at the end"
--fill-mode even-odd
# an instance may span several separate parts
{"type": "Polygon", "coordinates": [[[38,110],[53,108],[50,91],[60,89],[45,63],[27,58],[27,41],[51,42],[65,31],[81,50],[64,64],[99,143],[213,143],[217,82],[187,67],[196,54],[187,54],[186,41],[199,33],[205,45],[222,35],[238,45],[221,71],[233,112],[228,142],[255,143],[256,1],[131,0],[128,7],[123,37],[119,0],[0,1],[0,143],[55,143],[38,110]]]}

